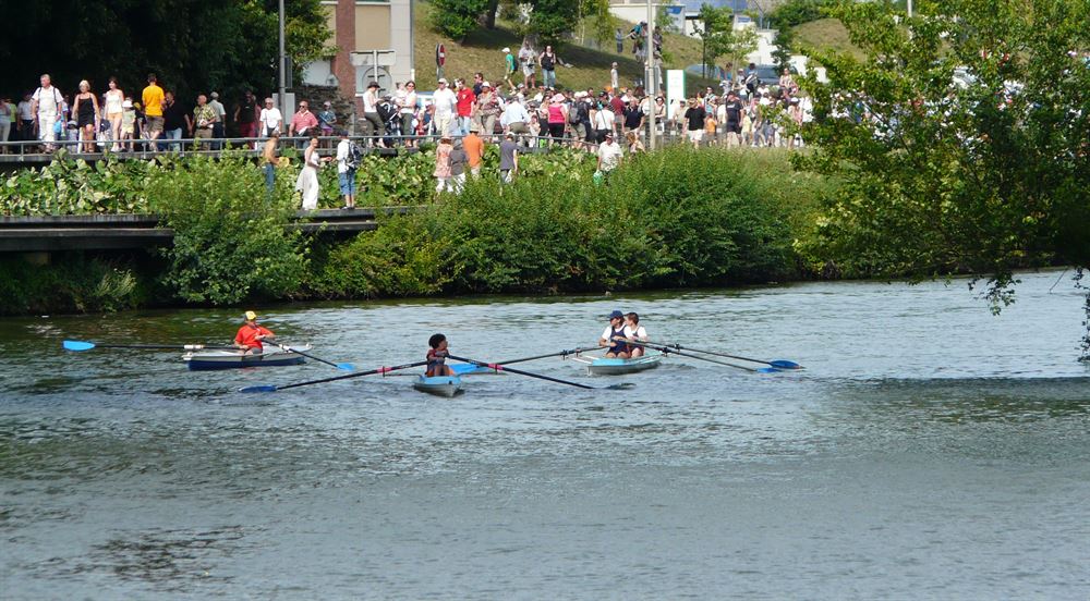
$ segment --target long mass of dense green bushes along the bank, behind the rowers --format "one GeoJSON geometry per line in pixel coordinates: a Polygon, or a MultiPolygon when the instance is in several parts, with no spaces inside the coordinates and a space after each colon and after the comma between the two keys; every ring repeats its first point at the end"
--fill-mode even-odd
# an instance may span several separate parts
{"type": "Polygon", "coordinates": [[[673,147],[625,162],[604,186],[591,157],[520,159],[461,195],[329,249],[310,283],[319,296],[699,286],[797,273],[792,229],[823,180],[783,154],[673,147]],[[547,192],[542,183],[548,182],[547,192]]]}

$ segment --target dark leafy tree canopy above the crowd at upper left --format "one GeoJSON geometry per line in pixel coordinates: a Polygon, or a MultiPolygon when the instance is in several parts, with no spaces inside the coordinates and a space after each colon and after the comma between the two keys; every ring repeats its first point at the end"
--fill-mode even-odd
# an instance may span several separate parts
{"type": "MultiPolygon", "coordinates": [[[[155,72],[184,96],[275,87],[276,0],[0,0],[15,26],[0,45],[0,90],[21,95],[49,73],[62,91],[81,79],[106,89],[117,76],[138,91],[155,72]]],[[[319,0],[286,3],[295,65],[327,56],[330,32],[319,0]]]]}

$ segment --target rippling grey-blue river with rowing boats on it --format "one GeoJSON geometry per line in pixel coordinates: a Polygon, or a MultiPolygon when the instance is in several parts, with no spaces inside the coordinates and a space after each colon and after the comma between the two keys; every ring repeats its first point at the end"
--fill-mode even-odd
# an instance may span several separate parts
{"type": "MultiPolygon", "coordinates": [[[[593,344],[614,308],[653,338],[799,361],[669,357],[467,379],[452,400],[337,370],[187,372],[238,309],[0,321],[4,599],[1086,599],[1090,370],[1082,298],[1024,274],[993,317],[949,286],[265,308],[358,368],[593,344]]],[[[255,307],[259,311],[262,307],[255,307]]]]}

